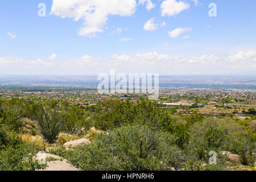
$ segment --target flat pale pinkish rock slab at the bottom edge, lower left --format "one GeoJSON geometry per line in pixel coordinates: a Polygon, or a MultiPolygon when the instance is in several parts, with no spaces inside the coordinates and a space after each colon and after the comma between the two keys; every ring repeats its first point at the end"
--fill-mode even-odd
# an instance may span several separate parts
{"type": "Polygon", "coordinates": [[[47,166],[48,167],[46,169],[40,169],[39,171],[79,171],[79,169],[74,167],[72,164],[61,160],[47,162],[47,166]]]}

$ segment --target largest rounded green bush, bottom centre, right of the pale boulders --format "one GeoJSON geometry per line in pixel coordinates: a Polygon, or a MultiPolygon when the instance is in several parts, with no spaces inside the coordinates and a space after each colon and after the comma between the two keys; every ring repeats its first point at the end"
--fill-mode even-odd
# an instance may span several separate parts
{"type": "Polygon", "coordinates": [[[146,126],[123,126],[74,151],[55,151],[82,170],[168,170],[180,168],[182,151],[171,135],[146,126]],[[61,154],[62,153],[62,154],[61,154]]]}

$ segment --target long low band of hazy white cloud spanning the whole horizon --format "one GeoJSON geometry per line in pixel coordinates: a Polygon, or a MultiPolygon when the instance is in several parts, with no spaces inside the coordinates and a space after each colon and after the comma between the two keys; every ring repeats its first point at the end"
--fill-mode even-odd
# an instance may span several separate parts
{"type": "Polygon", "coordinates": [[[42,59],[23,60],[18,57],[0,57],[2,73],[48,73],[86,75],[106,72],[110,68],[118,72],[147,72],[161,74],[208,74],[256,71],[256,50],[238,51],[230,54],[207,53],[198,56],[165,55],[158,52],[135,53],[133,55],[113,55],[111,59],[85,55],[78,59],[44,61],[42,59]],[[59,69],[59,68],[62,69],[59,69]],[[239,70],[238,70],[239,69],[239,70]],[[43,71],[42,71],[43,70],[43,71]],[[41,71],[41,72],[40,72],[41,71]]]}

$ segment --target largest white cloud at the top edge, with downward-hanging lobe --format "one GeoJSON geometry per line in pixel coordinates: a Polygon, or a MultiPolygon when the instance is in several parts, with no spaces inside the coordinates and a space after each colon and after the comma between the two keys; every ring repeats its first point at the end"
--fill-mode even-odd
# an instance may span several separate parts
{"type": "Polygon", "coordinates": [[[92,37],[104,31],[109,15],[130,16],[135,10],[135,0],[53,0],[51,14],[83,20],[78,34],[92,37]]]}

